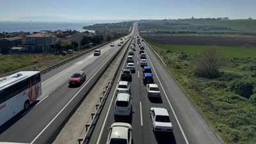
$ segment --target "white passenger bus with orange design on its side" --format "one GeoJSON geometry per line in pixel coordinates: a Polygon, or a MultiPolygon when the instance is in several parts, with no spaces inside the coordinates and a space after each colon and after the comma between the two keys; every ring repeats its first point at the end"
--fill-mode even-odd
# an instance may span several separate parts
{"type": "Polygon", "coordinates": [[[23,71],[0,78],[0,126],[27,110],[42,95],[38,71],[23,71]]]}

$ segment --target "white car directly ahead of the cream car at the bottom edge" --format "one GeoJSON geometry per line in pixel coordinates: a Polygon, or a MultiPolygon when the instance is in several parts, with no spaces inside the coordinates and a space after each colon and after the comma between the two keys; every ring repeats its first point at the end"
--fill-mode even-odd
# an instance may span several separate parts
{"type": "Polygon", "coordinates": [[[131,95],[128,93],[118,93],[115,100],[115,108],[114,114],[115,115],[131,115],[131,95]]]}

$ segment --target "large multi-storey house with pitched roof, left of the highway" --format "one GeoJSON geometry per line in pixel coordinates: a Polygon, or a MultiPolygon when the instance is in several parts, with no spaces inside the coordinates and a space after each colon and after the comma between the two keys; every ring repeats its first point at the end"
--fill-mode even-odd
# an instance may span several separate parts
{"type": "Polygon", "coordinates": [[[49,33],[35,33],[26,36],[25,50],[29,52],[50,52],[51,45],[56,44],[56,36],[49,33]]]}

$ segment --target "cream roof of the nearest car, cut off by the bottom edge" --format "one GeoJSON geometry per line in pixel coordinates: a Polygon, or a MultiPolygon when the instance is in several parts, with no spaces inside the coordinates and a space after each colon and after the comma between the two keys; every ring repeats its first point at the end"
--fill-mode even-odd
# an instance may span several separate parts
{"type": "Polygon", "coordinates": [[[128,129],[132,126],[131,124],[124,122],[115,122],[111,125],[112,132],[111,138],[124,138],[128,139],[128,129]]]}

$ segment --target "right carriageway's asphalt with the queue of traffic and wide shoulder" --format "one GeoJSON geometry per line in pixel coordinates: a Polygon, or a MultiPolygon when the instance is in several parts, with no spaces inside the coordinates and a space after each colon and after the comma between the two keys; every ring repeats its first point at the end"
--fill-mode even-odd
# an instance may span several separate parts
{"type": "MultiPolygon", "coordinates": [[[[135,33],[138,35],[138,30],[135,33]]],[[[148,99],[147,97],[146,87],[141,77],[140,48],[136,44],[136,52],[133,56],[136,72],[132,74],[131,81],[132,115],[114,116],[115,90],[112,90],[110,94],[112,96],[108,98],[88,143],[106,143],[109,134],[108,127],[114,122],[127,122],[132,125],[133,143],[222,143],[156,54],[145,42],[143,45],[148,66],[152,68],[154,83],[159,85],[161,91],[161,99],[148,99]],[[152,131],[149,115],[152,107],[168,110],[173,124],[173,133],[152,131]]],[[[125,68],[126,64],[124,61],[122,67],[125,68]]],[[[120,77],[116,79],[116,83],[119,80],[120,77]]]]}

